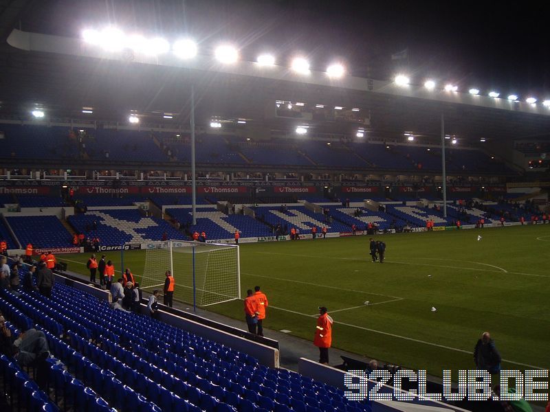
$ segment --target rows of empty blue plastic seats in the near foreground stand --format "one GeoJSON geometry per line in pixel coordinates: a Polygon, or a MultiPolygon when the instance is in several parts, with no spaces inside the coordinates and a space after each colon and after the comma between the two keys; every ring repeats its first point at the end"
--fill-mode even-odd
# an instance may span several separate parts
{"type": "MultiPolygon", "coordinates": [[[[154,319],[113,310],[107,301],[63,284],[56,283],[51,299],[36,292],[17,297],[2,290],[0,295],[0,309],[10,321],[45,333],[55,356],[47,360],[48,386],[64,407],[371,411],[370,403],[347,400],[340,389],[287,369],[270,369],[250,355],[154,319]]],[[[3,356],[0,365],[7,368],[10,359],[3,356]]],[[[14,385],[22,386],[24,378],[14,385]]],[[[36,398],[50,402],[43,395],[36,398]]]]}

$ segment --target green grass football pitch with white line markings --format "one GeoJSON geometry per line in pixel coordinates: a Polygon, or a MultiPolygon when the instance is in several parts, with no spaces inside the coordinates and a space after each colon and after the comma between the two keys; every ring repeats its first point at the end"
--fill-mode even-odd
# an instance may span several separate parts
{"type": "MultiPolygon", "coordinates": [[[[334,347],[435,376],[472,369],[485,330],[503,369],[550,367],[550,225],[375,238],[386,242],[384,264],[371,262],[369,236],[242,244],[241,293],[261,286],[270,303],[265,328],[312,341],[314,315],[327,306],[334,347]]],[[[87,274],[88,257],[58,260],[87,274]]],[[[120,270],[120,252],[107,257],[120,270]]],[[[135,274],[143,261],[144,251],[124,252],[135,274]]],[[[241,301],[208,310],[243,319],[241,301]]]]}

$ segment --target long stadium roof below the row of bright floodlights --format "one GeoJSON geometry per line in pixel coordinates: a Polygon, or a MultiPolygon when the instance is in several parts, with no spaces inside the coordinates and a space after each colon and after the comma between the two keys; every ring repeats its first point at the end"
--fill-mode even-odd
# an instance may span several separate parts
{"type": "MultiPolygon", "coordinates": [[[[7,20],[0,25],[5,34],[9,33],[7,20]]],[[[441,113],[445,133],[463,140],[537,138],[550,130],[550,110],[540,104],[533,107],[445,92],[441,85],[439,91],[430,92],[421,85],[398,87],[393,82],[351,76],[331,80],[316,71],[301,76],[287,67],[260,70],[246,61],[224,66],[208,56],[184,61],[170,56],[142,58],[127,51],[105,54],[79,38],[19,30],[11,32],[8,42],[14,47],[0,45],[3,117],[27,119],[32,108],[40,106],[51,117],[82,118],[83,107],[93,107],[95,119],[126,122],[127,115],[135,111],[160,124],[165,122],[163,113],[174,113],[170,124],[186,125],[193,84],[197,124],[221,116],[293,128],[300,121],[266,113],[275,100],[287,100],[360,108],[370,117],[369,134],[383,139],[394,139],[404,131],[438,138],[441,113]]],[[[318,126],[328,133],[347,133],[351,128],[318,126]]]]}

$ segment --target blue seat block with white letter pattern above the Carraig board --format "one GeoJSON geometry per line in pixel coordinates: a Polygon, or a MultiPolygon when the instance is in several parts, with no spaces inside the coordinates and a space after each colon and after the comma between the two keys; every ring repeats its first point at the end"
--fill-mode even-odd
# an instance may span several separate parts
{"type": "Polygon", "coordinates": [[[124,242],[142,243],[185,236],[168,222],[158,218],[144,218],[138,209],[93,210],[86,214],[69,216],[69,223],[80,233],[97,236],[101,244],[118,245],[124,242]],[[97,229],[94,230],[94,221],[97,229]]]}

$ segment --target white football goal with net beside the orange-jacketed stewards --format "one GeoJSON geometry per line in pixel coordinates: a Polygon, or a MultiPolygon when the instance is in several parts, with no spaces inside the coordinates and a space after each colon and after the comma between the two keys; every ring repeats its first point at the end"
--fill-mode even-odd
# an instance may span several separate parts
{"type": "Polygon", "coordinates": [[[162,289],[166,271],[175,280],[174,299],[209,306],[241,298],[238,245],[183,240],[149,244],[141,288],[162,289]]]}

